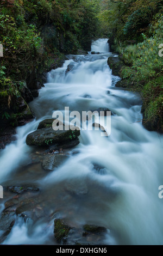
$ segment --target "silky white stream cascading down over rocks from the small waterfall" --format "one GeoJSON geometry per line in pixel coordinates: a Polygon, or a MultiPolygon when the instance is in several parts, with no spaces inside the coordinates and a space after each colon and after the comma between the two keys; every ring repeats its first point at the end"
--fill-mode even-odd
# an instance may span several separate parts
{"type": "MultiPolygon", "coordinates": [[[[112,76],[107,65],[108,57],[115,56],[109,53],[107,40],[93,42],[91,51],[100,54],[68,55],[62,68],[48,73],[45,88],[30,103],[36,120],[18,127],[17,141],[1,152],[1,185],[39,187],[33,198],[45,213],[35,222],[18,218],[4,244],[55,244],[55,217],[72,227],[85,223],[106,227],[103,242],[108,245],[163,244],[163,199],[158,197],[163,137],[143,128],[139,95],[115,87],[120,78],[112,76]],[[66,72],[69,64],[72,69],[66,72]],[[80,144],[68,150],[66,162],[47,172],[40,161],[34,162],[41,153],[26,145],[26,137],[41,120],[65,107],[79,113],[110,109],[114,113],[110,136],[81,129],[80,144]],[[77,194],[68,193],[68,186],[77,194]]],[[[7,197],[13,194],[4,193],[0,211],[7,197]]]]}

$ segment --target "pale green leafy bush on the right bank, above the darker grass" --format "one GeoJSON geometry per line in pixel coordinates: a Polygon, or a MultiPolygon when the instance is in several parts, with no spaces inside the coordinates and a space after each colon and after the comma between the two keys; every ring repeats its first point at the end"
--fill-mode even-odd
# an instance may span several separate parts
{"type": "Polygon", "coordinates": [[[137,82],[147,82],[150,77],[159,75],[163,68],[163,59],[159,57],[159,45],[163,40],[163,16],[153,26],[154,35],[145,39],[137,45],[131,45],[126,48],[119,47],[122,53],[122,59],[131,68],[123,70],[122,75],[126,78],[127,74],[134,72],[134,80],[137,82]]]}

